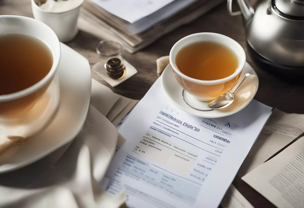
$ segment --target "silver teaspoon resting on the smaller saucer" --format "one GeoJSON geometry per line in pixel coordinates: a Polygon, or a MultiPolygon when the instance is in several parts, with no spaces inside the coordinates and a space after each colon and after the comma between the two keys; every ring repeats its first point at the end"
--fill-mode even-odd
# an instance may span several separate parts
{"type": "Polygon", "coordinates": [[[233,99],[234,99],[233,93],[237,90],[237,88],[240,87],[240,85],[242,85],[244,80],[249,75],[250,75],[249,73],[245,74],[243,80],[240,82],[240,84],[233,91],[229,90],[225,94],[223,94],[223,95],[219,96],[218,98],[216,98],[215,100],[212,100],[211,102],[209,102],[208,108],[217,110],[217,109],[222,109],[222,108],[226,108],[226,107],[230,106],[231,103],[233,102],[233,99]]]}

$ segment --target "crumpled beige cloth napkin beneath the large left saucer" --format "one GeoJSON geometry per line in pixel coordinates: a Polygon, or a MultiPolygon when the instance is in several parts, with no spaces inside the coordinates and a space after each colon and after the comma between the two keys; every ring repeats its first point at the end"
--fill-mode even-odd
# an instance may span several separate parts
{"type": "Polygon", "coordinates": [[[121,145],[124,140],[104,115],[110,113],[114,120],[117,116],[124,117],[126,112],[122,109],[137,101],[129,102],[129,99],[109,90],[92,80],[87,119],[73,142],[25,168],[0,175],[0,207],[125,206],[124,192],[109,197],[99,185],[117,142],[121,145]]]}

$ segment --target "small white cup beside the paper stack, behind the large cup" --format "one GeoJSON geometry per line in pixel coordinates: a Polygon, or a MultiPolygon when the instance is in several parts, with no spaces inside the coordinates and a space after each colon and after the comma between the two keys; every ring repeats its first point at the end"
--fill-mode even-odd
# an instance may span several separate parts
{"type": "Polygon", "coordinates": [[[71,9],[64,12],[45,11],[37,5],[39,0],[31,0],[31,2],[35,19],[50,26],[58,36],[60,42],[68,42],[74,39],[78,33],[77,21],[80,7],[84,0],[78,0],[71,9]]]}

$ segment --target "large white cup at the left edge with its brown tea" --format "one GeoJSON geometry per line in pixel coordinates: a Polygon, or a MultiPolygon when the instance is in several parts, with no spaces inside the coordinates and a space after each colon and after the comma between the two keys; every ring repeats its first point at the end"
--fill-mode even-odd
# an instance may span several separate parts
{"type": "Polygon", "coordinates": [[[46,24],[22,16],[0,16],[0,121],[25,116],[54,80],[60,43],[46,24]]]}

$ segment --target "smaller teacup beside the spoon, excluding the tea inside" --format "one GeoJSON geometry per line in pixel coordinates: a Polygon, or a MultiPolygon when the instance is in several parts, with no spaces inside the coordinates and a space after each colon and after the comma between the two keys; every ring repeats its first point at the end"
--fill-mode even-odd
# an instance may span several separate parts
{"type": "Polygon", "coordinates": [[[169,59],[176,80],[188,93],[200,101],[212,101],[231,90],[237,84],[246,63],[246,54],[240,44],[230,37],[217,33],[195,33],[175,43],[170,51],[169,59]],[[238,59],[236,71],[226,78],[217,80],[199,80],[181,73],[175,62],[178,51],[192,43],[202,41],[216,42],[230,48],[238,59]]]}

